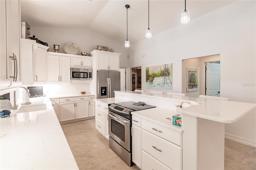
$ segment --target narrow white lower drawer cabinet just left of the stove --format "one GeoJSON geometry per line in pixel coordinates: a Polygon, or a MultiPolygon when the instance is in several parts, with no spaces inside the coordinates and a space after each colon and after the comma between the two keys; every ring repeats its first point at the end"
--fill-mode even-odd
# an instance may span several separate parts
{"type": "Polygon", "coordinates": [[[96,101],[95,103],[96,129],[108,139],[108,105],[96,101]]]}

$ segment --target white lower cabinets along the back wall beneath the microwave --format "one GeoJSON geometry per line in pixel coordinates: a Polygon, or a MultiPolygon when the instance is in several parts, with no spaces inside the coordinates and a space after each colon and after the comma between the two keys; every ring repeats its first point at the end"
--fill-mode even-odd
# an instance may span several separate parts
{"type": "Polygon", "coordinates": [[[82,97],[66,97],[58,99],[59,105],[56,105],[56,99],[51,99],[54,102],[54,108],[58,108],[58,111],[54,109],[60,122],[72,121],[76,119],[82,119],[86,117],[93,117],[94,113],[94,96],[82,96],[82,97]],[[92,108],[93,107],[93,108],[92,108]]]}

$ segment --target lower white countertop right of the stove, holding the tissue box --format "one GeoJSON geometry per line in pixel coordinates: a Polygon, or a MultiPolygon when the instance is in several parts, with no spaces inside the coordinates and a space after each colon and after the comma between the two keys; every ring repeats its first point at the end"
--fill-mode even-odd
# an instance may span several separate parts
{"type": "Polygon", "coordinates": [[[172,116],[177,114],[179,113],[177,113],[176,111],[162,109],[160,107],[154,107],[151,109],[144,109],[144,110],[132,112],[132,115],[136,115],[148,121],[152,121],[158,125],[175,130],[177,132],[182,132],[181,127],[172,125],[172,120],[166,119],[166,118],[172,119],[172,116]]]}

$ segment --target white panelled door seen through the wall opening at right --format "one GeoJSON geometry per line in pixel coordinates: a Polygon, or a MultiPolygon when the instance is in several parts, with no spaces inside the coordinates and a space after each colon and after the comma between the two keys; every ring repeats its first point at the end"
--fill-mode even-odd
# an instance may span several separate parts
{"type": "Polygon", "coordinates": [[[206,63],[206,95],[220,96],[220,63],[206,63]]]}

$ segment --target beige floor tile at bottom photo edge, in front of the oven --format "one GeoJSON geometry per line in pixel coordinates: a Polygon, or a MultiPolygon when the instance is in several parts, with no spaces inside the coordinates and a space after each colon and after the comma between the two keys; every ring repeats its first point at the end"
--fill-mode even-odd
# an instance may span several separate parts
{"type": "Polygon", "coordinates": [[[137,166],[128,166],[119,156],[105,162],[111,170],[139,170],[137,166]]]}

